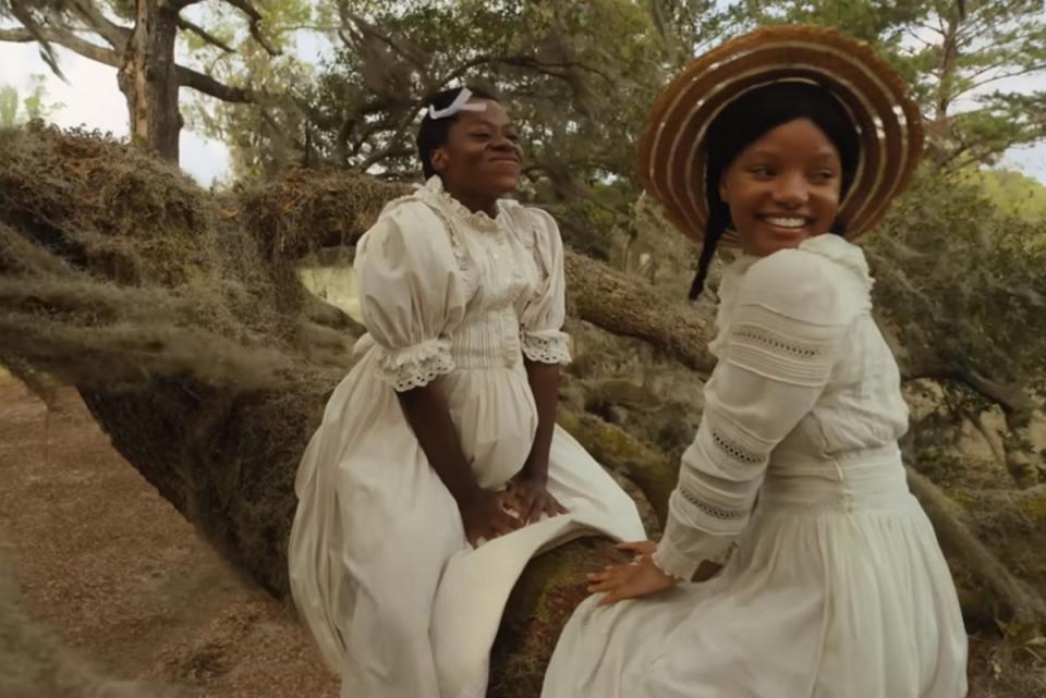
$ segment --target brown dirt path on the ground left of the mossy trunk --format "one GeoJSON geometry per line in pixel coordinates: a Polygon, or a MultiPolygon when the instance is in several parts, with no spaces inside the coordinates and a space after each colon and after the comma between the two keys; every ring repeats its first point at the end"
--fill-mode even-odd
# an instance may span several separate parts
{"type": "Polygon", "coordinates": [[[289,612],[196,537],[73,390],[48,413],[0,377],[0,556],[28,611],[114,677],[208,698],[338,695],[289,612]]]}

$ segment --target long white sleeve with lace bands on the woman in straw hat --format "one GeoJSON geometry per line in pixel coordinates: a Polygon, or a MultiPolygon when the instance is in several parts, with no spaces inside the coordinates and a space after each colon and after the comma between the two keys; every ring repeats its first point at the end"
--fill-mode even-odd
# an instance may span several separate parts
{"type": "Polygon", "coordinates": [[[749,524],[774,448],[813,409],[856,317],[838,268],[800,249],[741,281],[705,411],[685,451],[654,563],[680,579],[723,562],[749,524]]]}

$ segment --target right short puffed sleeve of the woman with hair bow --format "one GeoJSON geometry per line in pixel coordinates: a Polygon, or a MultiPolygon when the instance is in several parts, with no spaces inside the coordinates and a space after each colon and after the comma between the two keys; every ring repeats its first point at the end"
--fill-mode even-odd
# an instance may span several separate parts
{"type": "Polygon", "coordinates": [[[533,235],[534,258],[540,278],[537,293],[522,313],[523,355],[542,364],[568,364],[570,340],[562,331],[567,316],[567,281],[559,225],[540,209],[526,208],[523,212],[528,217],[528,234],[533,235]]]}

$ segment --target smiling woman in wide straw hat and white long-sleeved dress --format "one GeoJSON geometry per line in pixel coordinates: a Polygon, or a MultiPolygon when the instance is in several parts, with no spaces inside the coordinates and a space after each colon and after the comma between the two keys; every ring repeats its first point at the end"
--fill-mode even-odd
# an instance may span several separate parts
{"type": "Polygon", "coordinates": [[[956,590],[905,482],[908,411],[850,242],[921,147],[896,73],[824,29],[729,41],[658,99],[641,174],[703,245],[692,294],[717,246],[741,252],[665,534],[589,576],[544,698],[965,695],[956,590]]]}

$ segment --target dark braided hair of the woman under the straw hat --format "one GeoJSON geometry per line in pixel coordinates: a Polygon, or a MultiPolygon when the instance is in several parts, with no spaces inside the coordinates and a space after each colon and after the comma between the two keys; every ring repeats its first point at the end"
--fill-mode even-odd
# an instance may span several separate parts
{"type": "MultiPolygon", "coordinates": [[[[812,83],[780,82],[745,93],[723,109],[705,137],[707,144],[707,174],[705,196],[708,200],[708,221],[705,224],[704,245],[697,262],[697,275],[690,287],[694,299],[705,289],[708,267],[716,254],[719,240],[730,224],[730,209],[719,198],[719,181],[741,151],[758,140],[768,131],[796,119],[810,119],[820,128],[839,151],[842,161],[841,195],[846,195],[861,156],[861,140],[856,126],[846,108],[827,88],[812,83]]],[[[831,228],[837,235],[844,234],[840,221],[831,228]]]]}

